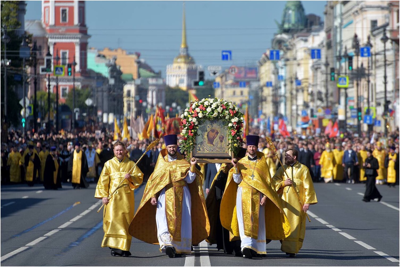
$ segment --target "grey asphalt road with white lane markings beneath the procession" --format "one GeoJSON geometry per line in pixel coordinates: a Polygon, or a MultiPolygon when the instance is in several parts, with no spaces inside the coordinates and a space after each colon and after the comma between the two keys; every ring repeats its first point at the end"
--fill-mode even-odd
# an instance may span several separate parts
{"type": "MultiPolygon", "coordinates": [[[[318,204],[310,206],[304,245],[296,258],[267,245],[264,259],[224,255],[203,241],[192,255],[170,259],[158,245],[133,239],[131,257],[112,257],[100,247],[101,202],[95,184],[58,191],[40,185],[1,187],[2,266],[399,266],[399,190],[378,186],[381,202],[361,201],[362,184],[314,185],[318,204]]],[[[144,186],[135,193],[136,207],[144,186]]]]}

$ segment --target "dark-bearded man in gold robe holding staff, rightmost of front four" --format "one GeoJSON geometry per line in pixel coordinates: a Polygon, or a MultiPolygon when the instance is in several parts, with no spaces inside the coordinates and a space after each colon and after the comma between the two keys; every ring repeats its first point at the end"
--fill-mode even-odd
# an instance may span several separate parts
{"type": "Polygon", "coordinates": [[[275,182],[276,191],[283,189],[280,197],[286,216],[290,222],[290,236],[282,240],[280,250],[286,252],[289,257],[296,257],[303,245],[306,234],[306,212],[310,205],[316,204],[317,196],[314,190],[314,184],[310,175],[310,170],[306,165],[297,161],[298,152],[296,149],[286,149],[286,165],[279,167],[272,179],[275,182]],[[289,177],[285,177],[285,171],[289,177]],[[290,185],[293,185],[294,188],[290,185]],[[303,207],[300,204],[297,191],[303,207]]]}

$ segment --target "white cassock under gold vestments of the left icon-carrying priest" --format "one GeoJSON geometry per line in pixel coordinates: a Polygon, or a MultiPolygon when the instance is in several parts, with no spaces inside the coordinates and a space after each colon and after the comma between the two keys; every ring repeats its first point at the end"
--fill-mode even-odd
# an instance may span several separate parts
{"type": "MultiPolygon", "coordinates": [[[[168,155],[168,161],[176,161],[176,158],[171,158],[168,155]]],[[[196,178],[196,173],[189,171],[185,177],[186,183],[193,183],[196,178]]],[[[157,201],[156,223],[157,237],[160,243],[160,251],[164,252],[165,246],[172,246],[177,251],[190,254],[192,253],[192,198],[187,186],[183,187],[183,203],[182,203],[182,223],[181,223],[181,241],[172,240],[171,234],[168,231],[167,217],[165,215],[165,188],[161,190],[157,201]]],[[[265,235],[265,234],[264,234],[265,235]]]]}

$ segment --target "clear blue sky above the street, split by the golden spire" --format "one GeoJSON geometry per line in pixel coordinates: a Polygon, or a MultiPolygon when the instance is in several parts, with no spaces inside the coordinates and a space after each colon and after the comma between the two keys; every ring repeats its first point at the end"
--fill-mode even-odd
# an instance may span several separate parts
{"type": "MultiPolygon", "coordinates": [[[[26,1],[25,20],[40,20],[41,1],[26,1]]],[[[86,1],[89,47],[138,51],[165,77],[182,40],[182,1],[86,1]]],[[[255,66],[271,46],[286,1],[186,1],[189,54],[205,68],[255,66]],[[232,50],[232,61],[221,61],[232,50]]],[[[302,1],[324,20],[326,1],[302,1]]],[[[209,76],[207,76],[209,78],[209,76]]]]}

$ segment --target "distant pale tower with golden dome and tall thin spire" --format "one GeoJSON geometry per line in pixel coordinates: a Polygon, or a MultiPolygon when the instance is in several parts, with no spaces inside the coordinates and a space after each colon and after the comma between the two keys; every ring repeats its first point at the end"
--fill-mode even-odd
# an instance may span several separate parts
{"type": "Polygon", "coordinates": [[[183,10],[182,22],[182,44],[180,45],[179,55],[174,58],[174,62],[167,65],[167,85],[170,87],[178,86],[182,90],[188,90],[193,87],[193,81],[197,79],[197,70],[201,66],[196,65],[194,59],[188,53],[186,44],[186,22],[185,9],[183,10]]]}

